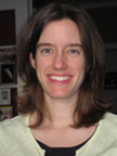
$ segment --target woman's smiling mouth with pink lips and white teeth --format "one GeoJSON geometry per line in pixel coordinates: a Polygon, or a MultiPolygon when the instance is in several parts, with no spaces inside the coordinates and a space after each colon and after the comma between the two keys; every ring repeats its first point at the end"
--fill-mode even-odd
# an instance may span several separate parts
{"type": "Polygon", "coordinates": [[[72,76],[54,76],[54,75],[51,75],[51,76],[49,76],[49,78],[50,78],[51,80],[55,80],[55,81],[62,82],[62,81],[67,81],[67,80],[69,80],[69,79],[72,78],[72,76]]]}

